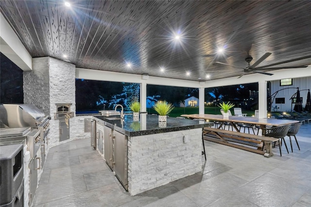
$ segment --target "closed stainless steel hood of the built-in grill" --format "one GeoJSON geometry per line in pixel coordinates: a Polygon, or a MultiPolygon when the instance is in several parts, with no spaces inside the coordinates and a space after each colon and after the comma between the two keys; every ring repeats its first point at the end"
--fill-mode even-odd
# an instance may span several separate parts
{"type": "Polygon", "coordinates": [[[0,104],[0,128],[36,127],[44,116],[32,104],[0,104]]]}

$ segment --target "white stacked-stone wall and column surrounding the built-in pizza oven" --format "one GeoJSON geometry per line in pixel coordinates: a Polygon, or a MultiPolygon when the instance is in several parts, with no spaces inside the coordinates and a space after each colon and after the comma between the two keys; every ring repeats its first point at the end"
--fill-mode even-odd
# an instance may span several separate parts
{"type": "MultiPolygon", "coordinates": [[[[24,103],[34,104],[45,115],[51,116],[49,148],[60,144],[59,120],[54,120],[55,104],[72,104],[70,110],[75,113],[75,65],[52,58],[33,58],[33,71],[23,73],[24,103]]],[[[84,132],[84,118],[70,118],[70,139],[89,138],[84,132]]]]}

